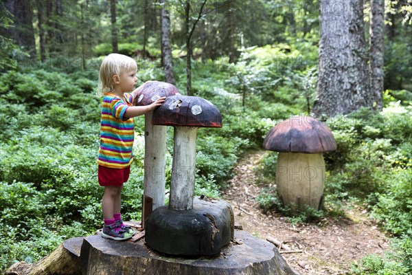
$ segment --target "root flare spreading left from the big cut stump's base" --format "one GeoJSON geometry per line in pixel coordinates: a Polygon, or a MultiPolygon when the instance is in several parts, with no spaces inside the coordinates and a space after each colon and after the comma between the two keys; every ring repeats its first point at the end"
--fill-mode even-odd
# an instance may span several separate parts
{"type": "Polygon", "coordinates": [[[7,275],[76,275],[80,271],[80,248],[84,237],[67,239],[56,250],[33,264],[19,262],[12,265],[7,275]]]}

